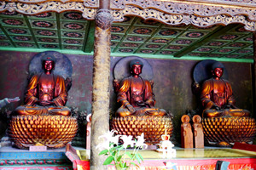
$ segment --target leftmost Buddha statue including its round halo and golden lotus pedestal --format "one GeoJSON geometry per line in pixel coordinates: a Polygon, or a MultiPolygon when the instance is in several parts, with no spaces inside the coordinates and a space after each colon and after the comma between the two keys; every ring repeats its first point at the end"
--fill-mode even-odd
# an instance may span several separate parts
{"type": "Polygon", "coordinates": [[[17,107],[9,120],[8,135],[16,147],[61,148],[73,140],[78,122],[65,106],[71,87],[71,77],[67,77],[72,75],[70,68],[70,60],[55,51],[32,58],[29,72],[33,76],[26,89],[25,105],[17,107]]]}

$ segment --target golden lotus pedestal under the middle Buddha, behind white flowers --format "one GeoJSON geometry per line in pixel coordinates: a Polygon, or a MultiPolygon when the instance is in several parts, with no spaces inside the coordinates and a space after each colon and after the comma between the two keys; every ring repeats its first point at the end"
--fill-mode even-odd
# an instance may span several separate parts
{"type": "Polygon", "coordinates": [[[161,135],[166,133],[172,136],[173,129],[172,119],[169,116],[113,117],[110,126],[118,134],[132,135],[134,138],[144,133],[147,144],[159,144],[161,135]]]}

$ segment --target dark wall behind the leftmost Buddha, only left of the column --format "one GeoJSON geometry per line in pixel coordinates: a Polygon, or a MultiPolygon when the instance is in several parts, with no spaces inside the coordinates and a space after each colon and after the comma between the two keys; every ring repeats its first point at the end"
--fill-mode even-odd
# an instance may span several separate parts
{"type": "MultiPolygon", "coordinates": [[[[20,101],[8,105],[14,110],[23,104],[27,85],[28,66],[38,53],[0,51],[0,99],[20,97],[20,101]]],[[[73,83],[68,92],[67,105],[80,111],[91,112],[93,57],[65,54],[73,65],[73,83]]]]}

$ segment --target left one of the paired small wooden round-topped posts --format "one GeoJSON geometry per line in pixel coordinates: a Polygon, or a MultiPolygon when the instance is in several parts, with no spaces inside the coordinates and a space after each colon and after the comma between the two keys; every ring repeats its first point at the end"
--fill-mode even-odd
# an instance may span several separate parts
{"type": "Polygon", "coordinates": [[[193,148],[193,133],[189,123],[189,116],[183,115],[181,118],[181,139],[183,148],[193,148]]]}

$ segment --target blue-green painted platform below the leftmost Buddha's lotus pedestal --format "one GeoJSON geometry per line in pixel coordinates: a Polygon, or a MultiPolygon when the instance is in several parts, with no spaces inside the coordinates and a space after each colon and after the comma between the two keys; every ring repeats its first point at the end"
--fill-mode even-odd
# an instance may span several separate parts
{"type": "Polygon", "coordinates": [[[65,148],[29,151],[12,146],[0,148],[0,170],[73,170],[73,163],[65,155],[65,148]]]}

